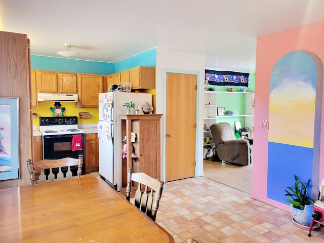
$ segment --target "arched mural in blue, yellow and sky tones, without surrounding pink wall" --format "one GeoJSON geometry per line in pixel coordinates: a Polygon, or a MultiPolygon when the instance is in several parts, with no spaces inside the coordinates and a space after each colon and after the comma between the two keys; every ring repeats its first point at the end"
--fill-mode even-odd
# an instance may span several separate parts
{"type": "Polygon", "coordinates": [[[312,179],[316,84],[316,64],[304,52],[281,57],[271,72],[268,179],[274,183],[268,185],[267,195],[282,203],[294,175],[302,181],[312,179]]]}

